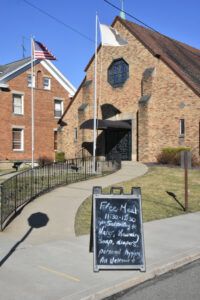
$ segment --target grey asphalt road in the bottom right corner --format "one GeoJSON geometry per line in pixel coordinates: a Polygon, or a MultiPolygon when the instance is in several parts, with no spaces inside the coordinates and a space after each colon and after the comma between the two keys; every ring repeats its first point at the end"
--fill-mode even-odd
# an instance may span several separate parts
{"type": "Polygon", "coordinates": [[[200,260],[107,300],[199,300],[200,260]]]}

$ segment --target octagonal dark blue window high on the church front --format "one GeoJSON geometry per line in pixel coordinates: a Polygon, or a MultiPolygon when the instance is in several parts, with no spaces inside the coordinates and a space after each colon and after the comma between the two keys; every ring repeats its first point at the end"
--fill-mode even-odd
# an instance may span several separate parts
{"type": "Polygon", "coordinates": [[[116,59],[108,68],[108,82],[112,87],[120,87],[129,77],[129,65],[123,58],[116,59]]]}

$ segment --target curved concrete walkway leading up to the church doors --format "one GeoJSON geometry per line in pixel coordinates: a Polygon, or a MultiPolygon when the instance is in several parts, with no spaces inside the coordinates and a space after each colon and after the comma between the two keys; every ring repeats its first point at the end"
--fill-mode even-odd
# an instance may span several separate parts
{"type": "MultiPolygon", "coordinates": [[[[122,169],[105,177],[94,178],[57,188],[30,202],[19,216],[5,228],[7,237],[20,239],[29,229],[28,218],[33,213],[45,213],[48,226],[31,234],[31,243],[66,239],[75,236],[74,222],[81,203],[91,195],[93,186],[106,187],[131,180],[147,172],[147,167],[138,162],[123,162],[122,169]]],[[[0,233],[1,237],[1,233],[0,233]]]]}

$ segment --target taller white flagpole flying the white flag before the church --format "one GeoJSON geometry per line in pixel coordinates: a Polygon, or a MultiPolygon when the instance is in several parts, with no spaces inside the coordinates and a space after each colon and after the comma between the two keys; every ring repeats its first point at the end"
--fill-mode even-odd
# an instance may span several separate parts
{"type": "Polygon", "coordinates": [[[97,35],[98,35],[97,26],[98,26],[98,16],[96,14],[95,62],[94,62],[93,173],[96,172],[96,139],[97,139],[97,35]]]}

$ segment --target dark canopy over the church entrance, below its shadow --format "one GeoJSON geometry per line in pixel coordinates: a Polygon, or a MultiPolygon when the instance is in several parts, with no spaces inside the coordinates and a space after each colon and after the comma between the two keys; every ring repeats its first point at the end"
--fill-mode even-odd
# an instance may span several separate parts
{"type": "MultiPolygon", "coordinates": [[[[127,121],[112,121],[112,120],[100,120],[97,119],[97,129],[131,129],[131,125],[127,121]]],[[[83,122],[80,129],[93,129],[94,119],[89,119],[83,122]]]]}

